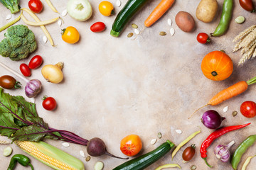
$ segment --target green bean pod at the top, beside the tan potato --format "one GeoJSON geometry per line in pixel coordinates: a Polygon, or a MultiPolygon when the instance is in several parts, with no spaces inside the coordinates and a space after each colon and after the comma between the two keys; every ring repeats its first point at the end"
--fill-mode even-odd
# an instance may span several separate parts
{"type": "Polygon", "coordinates": [[[220,35],[223,35],[228,30],[228,26],[232,18],[232,11],[233,11],[233,0],[224,0],[223,11],[220,17],[220,23],[218,24],[214,33],[211,33],[210,35],[212,35],[213,37],[218,37],[220,35]]]}

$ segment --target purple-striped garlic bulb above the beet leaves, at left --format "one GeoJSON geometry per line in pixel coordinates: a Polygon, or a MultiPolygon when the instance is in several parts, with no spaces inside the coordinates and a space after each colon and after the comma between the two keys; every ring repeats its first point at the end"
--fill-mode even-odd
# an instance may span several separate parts
{"type": "Polygon", "coordinates": [[[31,81],[28,81],[25,87],[25,94],[29,98],[36,97],[37,94],[41,92],[42,84],[41,81],[38,79],[33,79],[31,81]]]}

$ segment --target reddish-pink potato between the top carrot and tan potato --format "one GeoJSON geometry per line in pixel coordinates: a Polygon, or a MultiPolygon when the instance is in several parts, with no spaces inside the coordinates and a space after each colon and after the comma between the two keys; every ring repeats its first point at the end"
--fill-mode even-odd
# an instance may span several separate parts
{"type": "Polygon", "coordinates": [[[190,13],[185,11],[179,11],[175,17],[175,22],[178,28],[181,28],[184,32],[191,32],[195,27],[195,21],[190,13]]]}

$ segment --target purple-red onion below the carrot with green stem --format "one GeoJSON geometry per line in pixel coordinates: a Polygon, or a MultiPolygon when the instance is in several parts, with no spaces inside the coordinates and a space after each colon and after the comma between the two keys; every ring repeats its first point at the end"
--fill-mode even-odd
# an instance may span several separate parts
{"type": "Polygon", "coordinates": [[[225,118],[221,117],[218,112],[210,110],[203,113],[201,118],[203,125],[209,129],[217,129],[225,118]]]}

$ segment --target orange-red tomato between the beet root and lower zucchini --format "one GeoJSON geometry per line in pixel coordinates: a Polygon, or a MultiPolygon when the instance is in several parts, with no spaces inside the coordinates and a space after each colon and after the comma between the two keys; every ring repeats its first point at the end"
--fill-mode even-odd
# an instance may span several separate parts
{"type": "Polygon", "coordinates": [[[142,149],[142,140],[138,135],[128,135],[121,140],[120,150],[128,157],[139,153],[142,149]]]}

